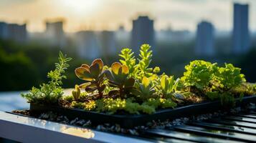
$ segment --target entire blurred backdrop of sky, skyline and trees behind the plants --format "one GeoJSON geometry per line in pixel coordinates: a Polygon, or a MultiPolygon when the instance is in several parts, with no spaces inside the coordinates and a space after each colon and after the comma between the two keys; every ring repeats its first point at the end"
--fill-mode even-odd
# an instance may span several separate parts
{"type": "Polygon", "coordinates": [[[194,59],[230,62],[256,82],[256,1],[232,0],[1,0],[0,91],[28,90],[47,81],[57,53],[74,70],[102,58],[118,61],[123,47],[138,55],[151,44],[152,66],[180,77],[194,59]]]}

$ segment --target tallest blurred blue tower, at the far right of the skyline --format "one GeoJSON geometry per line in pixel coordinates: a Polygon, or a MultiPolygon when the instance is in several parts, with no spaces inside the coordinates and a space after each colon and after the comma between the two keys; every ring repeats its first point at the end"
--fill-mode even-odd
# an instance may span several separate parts
{"type": "Polygon", "coordinates": [[[249,51],[250,36],[248,28],[248,4],[234,4],[233,52],[243,54],[249,51]]]}

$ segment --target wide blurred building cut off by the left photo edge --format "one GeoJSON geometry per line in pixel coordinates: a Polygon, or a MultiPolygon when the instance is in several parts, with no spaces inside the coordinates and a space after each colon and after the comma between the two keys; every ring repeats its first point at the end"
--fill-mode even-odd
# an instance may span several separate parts
{"type": "Polygon", "coordinates": [[[9,39],[17,42],[27,41],[27,25],[0,22],[0,39],[9,39]]]}

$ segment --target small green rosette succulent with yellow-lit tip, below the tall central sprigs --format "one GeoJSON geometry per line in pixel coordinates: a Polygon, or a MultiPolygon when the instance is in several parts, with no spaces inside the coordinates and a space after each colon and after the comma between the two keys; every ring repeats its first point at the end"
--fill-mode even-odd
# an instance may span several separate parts
{"type": "Polygon", "coordinates": [[[137,82],[137,89],[133,89],[133,94],[135,94],[138,99],[145,101],[151,97],[154,97],[156,90],[154,89],[153,82],[147,77],[143,77],[142,82],[137,82]]]}

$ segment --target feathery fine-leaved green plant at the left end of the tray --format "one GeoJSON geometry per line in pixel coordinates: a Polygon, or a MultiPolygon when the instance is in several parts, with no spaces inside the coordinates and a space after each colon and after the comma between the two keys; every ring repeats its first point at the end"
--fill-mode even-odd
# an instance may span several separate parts
{"type": "Polygon", "coordinates": [[[22,94],[22,97],[27,99],[27,102],[37,103],[37,104],[57,104],[60,97],[62,97],[63,89],[62,79],[65,79],[65,70],[69,66],[67,64],[71,58],[64,56],[62,52],[59,53],[59,63],[55,64],[54,71],[49,71],[47,77],[50,81],[47,84],[40,85],[37,89],[32,87],[32,89],[27,94],[22,94]]]}

